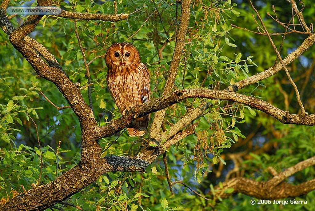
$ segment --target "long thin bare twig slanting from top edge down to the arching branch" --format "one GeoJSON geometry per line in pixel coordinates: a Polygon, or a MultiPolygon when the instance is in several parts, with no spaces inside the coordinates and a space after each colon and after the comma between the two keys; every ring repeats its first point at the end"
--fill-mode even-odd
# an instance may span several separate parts
{"type": "Polygon", "coordinates": [[[294,90],[295,90],[296,100],[297,100],[297,102],[298,102],[298,104],[299,104],[299,106],[300,106],[300,108],[301,108],[302,115],[303,115],[303,116],[306,116],[307,113],[306,113],[306,111],[305,111],[305,109],[304,109],[304,106],[303,106],[303,103],[302,103],[302,101],[301,101],[300,93],[299,93],[299,90],[298,90],[297,86],[295,85],[293,79],[291,78],[290,73],[289,73],[289,71],[288,71],[288,69],[287,69],[287,67],[286,67],[286,65],[285,65],[285,63],[284,63],[284,61],[282,60],[282,57],[281,57],[281,55],[280,55],[280,53],[279,53],[279,51],[278,51],[276,45],[273,43],[272,38],[270,37],[270,35],[269,35],[269,33],[268,33],[268,30],[267,30],[267,28],[266,28],[266,26],[265,26],[263,20],[261,19],[261,17],[260,17],[260,15],[259,15],[258,11],[257,11],[256,8],[254,7],[254,5],[253,5],[253,3],[251,2],[251,0],[249,0],[249,3],[250,3],[250,5],[251,5],[251,7],[254,9],[255,13],[257,14],[257,17],[258,17],[258,19],[260,20],[261,25],[262,25],[262,27],[264,28],[264,30],[265,30],[265,32],[266,32],[266,35],[268,36],[269,41],[270,41],[270,43],[271,43],[271,45],[272,45],[274,51],[276,52],[276,54],[277,54],[277,56],[278,56],[278,58],[279,58],[279,60],[280,60],[280,63],[281,63],[281,65],[282,65],[282,67],[283,67],[285,73],[286,73],[287,76],[288,76],[288,79],[289,79],[291,85],[293,86],[293,88],[294,88],[294,90]]]}

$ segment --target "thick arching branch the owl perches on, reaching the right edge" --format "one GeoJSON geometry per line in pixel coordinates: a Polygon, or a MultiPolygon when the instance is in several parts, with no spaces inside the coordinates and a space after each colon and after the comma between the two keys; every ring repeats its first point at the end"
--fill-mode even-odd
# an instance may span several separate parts
{"type": "Polygon", "coordinates": [[[244,105],[248,105],[255,109],[263,111],[266,114],[278,119],[284,124],[291,123],[309,126],[315,125],[315,114],[306,115],[305,117],[299,114],[289,114],[287,111],[283,111],[273,106],[272,104],[253,96],[213,89],[181,89],[174,91],[173,93],[168,94],[165,97],[160,97],[150,102],[131,108],[125,116],[112,121],[106,126],[98,128],[97,131],[99,138],[108,137],[112,134],[117,133],[118,131],[125,128],[136,117],[142,117],[148,113],[159,111],[175,103],[181,102],[182,100],[187,98],[229,100],[232,102],[242,103],[244,105]]]}

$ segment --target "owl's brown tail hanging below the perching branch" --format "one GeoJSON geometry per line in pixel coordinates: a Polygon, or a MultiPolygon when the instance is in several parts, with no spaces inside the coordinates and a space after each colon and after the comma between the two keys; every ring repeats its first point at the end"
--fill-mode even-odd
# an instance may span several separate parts
{"type": "Polygon", "coordinates": [[[149,115],[136,118],[132,123],[127,126],[129,136],[143,136],[146,133],[148,127],[149,115]]]}

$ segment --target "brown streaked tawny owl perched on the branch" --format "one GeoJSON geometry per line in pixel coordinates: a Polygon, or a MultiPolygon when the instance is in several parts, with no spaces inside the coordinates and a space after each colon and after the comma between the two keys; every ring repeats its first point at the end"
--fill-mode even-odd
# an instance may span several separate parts
{"type": "MultiPolygon", "coordinates": [[[[150,101],[150,77],[140,61],[138,50],[129,43],[116,43],[105,55],[107,87],[122,115],[131,107],[150,101]]],[[[127,126],[129,136],[146,133],[149,115],[136,118],[127,126]]]]}

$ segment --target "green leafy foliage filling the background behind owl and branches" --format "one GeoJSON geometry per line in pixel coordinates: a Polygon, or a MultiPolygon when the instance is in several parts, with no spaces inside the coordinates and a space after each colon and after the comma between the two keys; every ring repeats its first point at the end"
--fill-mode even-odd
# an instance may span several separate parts
{"type": "MultiPolygon", "coordinates": [[[[312,0],[302,2],[298,3],[298,7],[303,7],[304,18],[310,25],[315,19],[315,7],[312,0]]],[[[11,1],[10,6],[21,4],[36,5],[33,1],[11,1]]],[[[113,1],[107,0],[58,1],[56,5],[76,12],[114,12],[113,1]]],[[[272,20],[268,12],[273,17],[277,15],[283,23],[292,19],[291,4],[285,0],[254,1],[254,5],[269,32],[283,33],[285,28],[272,20]]],[[[113,43],[132,43],[150,71],[152,97],[157,98],[163,91],[172,59],[180,4],[175,0],[118,0],[117,9],[118,13],[137,11],[128,20],[116,23],[77,20],[77,31],[87,61],[105,54],[113,43]],[[159,52],[161,48],[162,53],[159,52]]],[[[262,28],[257,28],[252,14],[254,11],[249,3],[243,0],[193,0],[187,43],[176,86],[222,90],[273,66],[276,54],[268,38],[250,32],[263,32],[262,28]]],[[[18,27],[26,18],[19,15],[11,22],[18,27]]],[[[302,31],[296,18],[294,22],[296,30],[302,31]]],[[[67,106],[58,89],[37,77],[31,66],[13,48],[8,36],[3,31],[0,33],[0,203],[4,203],[23,192],[20,185],[29,189],[31,183],[45,184],[76,165],[80,160],[81,139],[80,126],[74,113],[70,109],[58,111],[40,93],[43,92],[56,106],[67,106]]],[[[81,86],[88,84],[73,20],[44,16],[30,37],[55,55],[73,82],[79,82],[81,86]]],[[[282,46],[283,58],[306,37],[299,33],[287,34],[281,45],[283,34],[272,36],[277,47],[282,46]]],[[[314,65],[312,46],[288,66],[308,113],[315,112],[314,65]]],[[[105,118],[100,124],[105,125],[121,115],[106,88],[104,57],[93,61],[89,70],[94,83],[92,99],[95,118],[99,120],[97,114],[103,112],[105,118]]],[[[300,112],[294,90],[284,71],[238,92],[262,98],[290,113],[300,112]]],[[[82,90],[82,95],[88,102],[87,88],[82,90]]],[[[195,123],[199,123],[195,134],[170,147],[167,156],[171,180],[182,180],[205,197],[211,198],[213,187],[225,180],[243,176],[266,181],[272,178],[266,171],[268,167],[281,172],[315,155],[314,127],[284,125],[248,106],[226,101],[188,99],[171,106],[167,110],[163,129],[169,129],[186,111],[204,103],[211,106],[195,120],[195,123]]],[[[104,149],[111,145],[103,156],[132,156],[142,143],[123,131],[121,135],[118,133],[101,139],[100,145],[104,149]]],[[[313,178],[314,168],[306,168],[287,182],[300,184],[313,178]]],[[[175,184],[173,191],[171,195],[161,157],[144,174],[114,172],[103,175],[66,202],[78,205],[83,210],[312,210],[315,205],[314,191],[295,198],[307,200],[307,205],[285,206],[250,205],[252,197],[244,194],[218,202],[207,201],[180,184],[175,184]]],[[[65,204],[57,204],[56,207],[77,210],[65,204]]]]}

